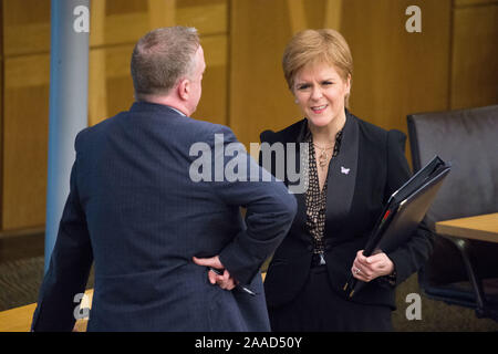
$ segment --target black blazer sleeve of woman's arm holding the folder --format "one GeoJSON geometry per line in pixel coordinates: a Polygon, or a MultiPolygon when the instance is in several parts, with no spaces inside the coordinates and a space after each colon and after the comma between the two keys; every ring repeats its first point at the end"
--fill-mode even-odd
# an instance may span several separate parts
{"type": "MultiPolygon", "coordinates": [[[[391,196],[411,176],[408,163],[405,158],[405,134],[398,131],[387,133],[387,185],[385,196],[391,196]]],[[[424,221],[414,231],[412,238],[404,246],[388,253],[396,270],[396,282],[400,284],[411,274],[418,271],[427,261],[433,249],[433,235],[424,221]]]]}

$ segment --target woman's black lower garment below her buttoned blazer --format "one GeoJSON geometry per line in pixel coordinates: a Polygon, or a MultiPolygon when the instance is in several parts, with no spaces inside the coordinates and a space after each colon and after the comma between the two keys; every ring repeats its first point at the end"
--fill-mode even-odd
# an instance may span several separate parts
{"type": "Polygon", "coordinates": [[[331,288],[325,266],[310,269],[295,299],[269,309],[274,332],[393,331],[391,308],[344,300],[331,288]]]}

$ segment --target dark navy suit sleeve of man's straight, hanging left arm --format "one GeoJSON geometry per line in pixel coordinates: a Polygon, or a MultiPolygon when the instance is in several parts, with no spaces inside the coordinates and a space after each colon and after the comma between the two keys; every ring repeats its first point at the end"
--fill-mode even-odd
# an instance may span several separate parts
{"type": "MultiPolygon", "coordinates": [[[[93,253],[86,220],[77,192],[77,157],[71,170],[70,194],[58,238],[43,279],[32,331],[72,331],[79,305],[74,296],[84,293],[93,253]]],[[[81,300],[81,299],[80,299],[81,300]]]]}

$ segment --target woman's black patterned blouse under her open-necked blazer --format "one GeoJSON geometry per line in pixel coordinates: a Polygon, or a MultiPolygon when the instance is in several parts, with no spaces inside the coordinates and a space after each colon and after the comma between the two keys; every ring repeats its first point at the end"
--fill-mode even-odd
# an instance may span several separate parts
{"type": "MultiPolygon", "coordinates": [[[[342,131],[339,131],[338,134],[335,135],[335,145],[330,164],[332,164],[334,157],[339,155],[339,149],[341,148],[341,139],[342,139],[342,131]]],[[[314,243],[313,253],[319,254],[324,252],[323,233],[325,230],[328,183],[325,179],[323,189],[320,190],[317,159],[314,156],[313,137],[309,129],[304,138],[304,142],[309,143],[309,170],[308,170],[309,187],[305,196],[307,227],[308,231],[310,232],[310,236],[313,238],[314,243]]]]}

